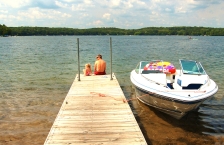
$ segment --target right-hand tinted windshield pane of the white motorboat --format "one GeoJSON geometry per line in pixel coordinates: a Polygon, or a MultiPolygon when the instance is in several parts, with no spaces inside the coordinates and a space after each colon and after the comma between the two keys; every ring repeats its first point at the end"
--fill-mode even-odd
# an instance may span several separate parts
{"type": "Polygon", "coordinates": [[[184,74],[206,74],[200,62],[193,60],[180,60],[180,65],[184,74]]]}

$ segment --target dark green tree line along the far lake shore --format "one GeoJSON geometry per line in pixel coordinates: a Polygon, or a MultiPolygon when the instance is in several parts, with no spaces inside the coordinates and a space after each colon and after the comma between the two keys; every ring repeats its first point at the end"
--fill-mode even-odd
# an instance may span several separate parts
{"type": "Polygon", "coordinates": [[[224,36],[224,28],[211,27],[146,27],[141,29],[101,28],[55,28],[55,27],[7,27],[0,24],[0,36],[46,36],[46,35],[208,35],[224,36]]]}

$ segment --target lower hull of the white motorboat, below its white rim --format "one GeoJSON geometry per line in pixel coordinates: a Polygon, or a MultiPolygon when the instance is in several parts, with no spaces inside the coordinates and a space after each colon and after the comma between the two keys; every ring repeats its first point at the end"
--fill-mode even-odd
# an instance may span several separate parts
{"type": "Polygon", "coordinates": [[[159,94],[143,90],[135,85],[134,87],[136,98],[138,98],[138,100],[176,119],[181,119],[189,111],[197,109],[201,103],[203,103],[206,99],[211,97],[210,96],[206,99],[198,101],[182,102],[178,100],[172,100],[165,96],[161,96],[159,94]]]}

